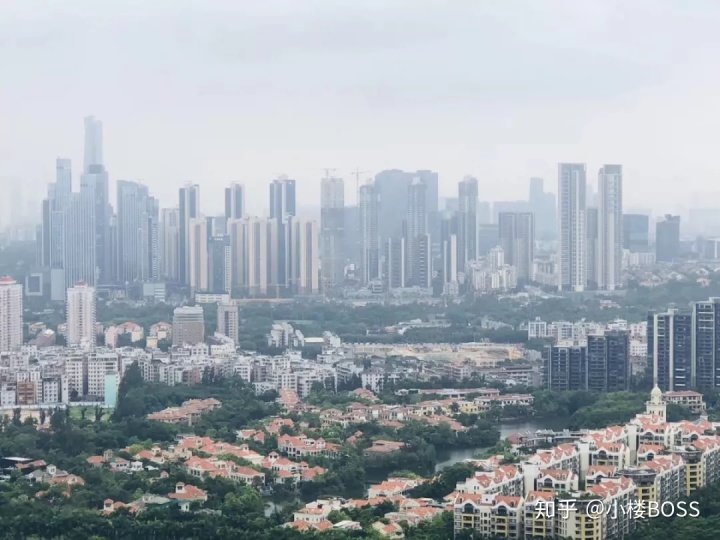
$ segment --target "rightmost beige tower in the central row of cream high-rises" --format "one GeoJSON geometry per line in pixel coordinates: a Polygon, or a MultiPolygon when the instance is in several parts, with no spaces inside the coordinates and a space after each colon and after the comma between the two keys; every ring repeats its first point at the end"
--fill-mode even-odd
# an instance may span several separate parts
{"type": "Polygon", "coordinates": [[[293,294],[320,293],[320,235],[318,223],[305,218],[290,220],[290,290],[293,294]]]}

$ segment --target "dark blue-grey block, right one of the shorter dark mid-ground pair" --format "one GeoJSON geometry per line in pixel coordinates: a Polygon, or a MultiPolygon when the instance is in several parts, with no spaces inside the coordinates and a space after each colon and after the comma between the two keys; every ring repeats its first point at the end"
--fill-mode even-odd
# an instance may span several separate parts
{"type": "Polygon", "coordinates": [[[587,338],[588,387],[591,392],[630,389],[630,337],[614,330],[587,338]]]}

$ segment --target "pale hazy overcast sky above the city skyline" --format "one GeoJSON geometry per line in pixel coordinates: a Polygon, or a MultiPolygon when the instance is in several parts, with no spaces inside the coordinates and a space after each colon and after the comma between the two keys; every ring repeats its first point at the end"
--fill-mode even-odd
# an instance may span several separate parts
{"type": "Polygon", "coordinates": [[[197,182],[206,213],[281,173],[315,205],[325,167],[520,198],[558,161],[675,210],[720,191],[719,26],[717,0],[0,0],[0,177],[79,173],[94,114],[111,179],[197,182]]]}

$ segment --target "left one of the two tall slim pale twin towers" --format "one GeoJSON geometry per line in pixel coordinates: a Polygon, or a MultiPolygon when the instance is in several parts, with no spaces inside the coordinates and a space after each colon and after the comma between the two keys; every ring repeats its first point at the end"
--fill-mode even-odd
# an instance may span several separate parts
{"type": "Polygon", "coordinates": [[[583,291],[587,283],[585,188],[585,164],[560,163],[558,166],[560,198],[558,288],[564,291],[583,291]]]}

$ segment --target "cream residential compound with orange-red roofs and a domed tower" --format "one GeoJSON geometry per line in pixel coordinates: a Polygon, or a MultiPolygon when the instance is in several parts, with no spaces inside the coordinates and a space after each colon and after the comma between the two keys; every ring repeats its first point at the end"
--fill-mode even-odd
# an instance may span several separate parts
{"type": "Polygon", "coordinates": [[[581,432],[573,442],[539,450],[518,465],[477,462],[480,470],[446,498],[453,503],[456,533],[622,538],[651,515],[653,505],[692,497],[720,480],[718,426],[667,422],[665,412],[655,387],[645,414],[625,426],[581,432]],[[632,508],[640,510],[628,512],[632,508]]]}

